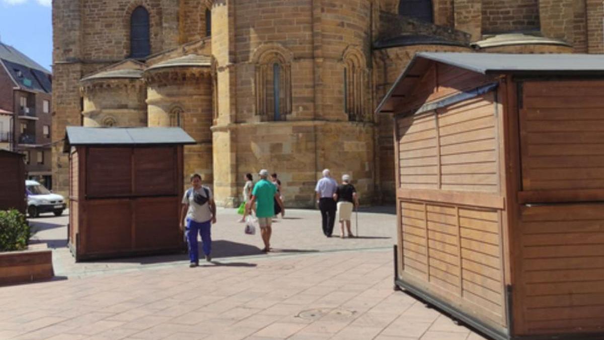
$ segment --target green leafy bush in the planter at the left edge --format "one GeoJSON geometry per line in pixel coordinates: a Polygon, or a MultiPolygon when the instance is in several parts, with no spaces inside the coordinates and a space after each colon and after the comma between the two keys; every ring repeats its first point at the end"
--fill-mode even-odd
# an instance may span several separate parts
{"type": "Polygon", "coordinates": [[[0,252],[25,250],[30,237],[24,214],[15,209],[0,211],[0,252]]]}

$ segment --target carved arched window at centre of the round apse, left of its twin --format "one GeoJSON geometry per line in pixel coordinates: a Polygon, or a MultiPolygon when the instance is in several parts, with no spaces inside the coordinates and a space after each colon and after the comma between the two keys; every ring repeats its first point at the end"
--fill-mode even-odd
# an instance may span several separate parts
{"type": "Polygon", "coordinates": [[[256,115],[262,120],[286,120],[292,112],[292,61],[294,53],[280,44],[263,44],[254,50],[256,115]]]}

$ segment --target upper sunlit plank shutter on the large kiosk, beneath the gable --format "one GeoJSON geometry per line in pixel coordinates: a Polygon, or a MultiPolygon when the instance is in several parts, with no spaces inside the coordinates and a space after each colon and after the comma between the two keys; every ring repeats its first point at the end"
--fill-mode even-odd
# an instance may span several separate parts
{"type": "Polygon", "coordinates": [[[493,93],[397,119],[403,189],[498,192],[493,93]]]}

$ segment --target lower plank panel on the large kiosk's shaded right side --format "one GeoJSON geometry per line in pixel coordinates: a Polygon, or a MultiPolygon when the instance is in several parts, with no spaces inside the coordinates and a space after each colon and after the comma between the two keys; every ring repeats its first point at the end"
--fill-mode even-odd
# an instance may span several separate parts
{"type": "Polygon", "coordinates": [[[604,329],[604,204],[523,206],[525,333],[604,329]]]}

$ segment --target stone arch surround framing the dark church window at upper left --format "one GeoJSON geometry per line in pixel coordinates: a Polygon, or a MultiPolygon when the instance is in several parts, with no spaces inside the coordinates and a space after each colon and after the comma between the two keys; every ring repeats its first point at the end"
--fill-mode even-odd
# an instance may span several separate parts
{"type": "Polygon", "coordinates": [[[153,6],[151,3],[152,0],[132,0],[129,4],[124,7],[123,10],[123,21],[122,27],[125,32],[125,41],[124,44],[124,56],[130,56],[130,47],[132,43],[130,42],[130,19],[132,18],[132,12],[137,7],[144,7],[149,13],[149,44],[150,44],[150,53],[153,54],[156,51],[162,49],[162,12],[161,7],[153,6]]]}

